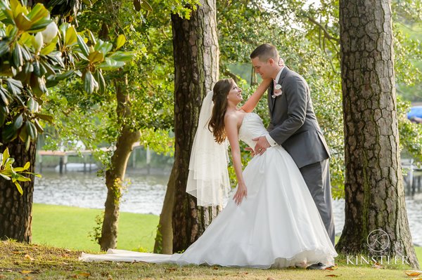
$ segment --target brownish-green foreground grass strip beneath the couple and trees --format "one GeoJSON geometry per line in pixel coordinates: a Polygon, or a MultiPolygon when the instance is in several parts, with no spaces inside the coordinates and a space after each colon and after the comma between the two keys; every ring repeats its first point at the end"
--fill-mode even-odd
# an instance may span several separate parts
{"type": "Polygon", "coordinates": [[[143,262],[79,262],[80,251],[0,241],[0,279],[414,279],[404,269],[340,265],[335,270],[243,269],[143,262]]]}

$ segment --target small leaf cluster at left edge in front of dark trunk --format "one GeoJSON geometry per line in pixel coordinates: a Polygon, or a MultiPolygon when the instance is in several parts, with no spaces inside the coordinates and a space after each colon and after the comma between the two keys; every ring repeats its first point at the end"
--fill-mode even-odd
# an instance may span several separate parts
{"type": "Polygon", "coordinates": [[[6,180],[12,180],[16,188],[18,188],[20,195],[22,195],[23,189],[19,182],[28,182],[31,180],[22,174],[35,175],[39,178],[41,178],[41,175],[27,171],[30,168],[29,162],[23,167],[13,167],[12,164],[14,162],[15,159],[10,156],[8,148],[6,148],[4,152],[0,154],[0,177],[6,180]]]}

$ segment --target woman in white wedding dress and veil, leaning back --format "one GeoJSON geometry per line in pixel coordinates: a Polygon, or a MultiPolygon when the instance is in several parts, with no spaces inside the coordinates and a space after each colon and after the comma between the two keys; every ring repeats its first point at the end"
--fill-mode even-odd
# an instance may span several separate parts
{"type": "MultiPolygon", "coordinates": [[[[263,81],[243,108],[250,111],[255,107],[270,82],[263,81]]],[[[242,90],[234,80],[222,79],[201,108],[186,192],[195,195],[202,206],[221,204],[228,196],[226,139],[238,185],[232,199],[195,243],[181,254],[110,249],[105,255],[82,253],[79,260],[256,268],[306,267],[319,262],[334,265],[337,253],[288,152],[280,145],[269,147],[254,156],[242,172],[239,140],[254,148],[252,139],[268,133],[260,116],[238,107],[242,100],[242,90]]]]}

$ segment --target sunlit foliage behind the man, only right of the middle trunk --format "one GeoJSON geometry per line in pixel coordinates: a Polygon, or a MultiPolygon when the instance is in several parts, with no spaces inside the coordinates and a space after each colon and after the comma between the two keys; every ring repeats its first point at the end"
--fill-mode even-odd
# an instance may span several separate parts
{"type": "MultiPolygon", "coordinates": [[[[245,82],[254,81],[253,75],[249,74],[252,71],[248,55],[256,46],[268,42],[278,48],[290,69],[305,77],[311,88],[316,116],[331,149],[333,197],[340,198],[344,195],[345,167],[338,0],[324,0],[310,5],[307,2],[269,0],[263,4],[261,1],[217,1],[220,69],[225,77],[236,75],[245,79],[240,83],[244,96],[248,96],[253,88],[247,88],[245,82]],[[236,14],[236,18],[233,18],[233,14],[236,14]]],[[[421,72],[416,68],[421,61],[421,44],[418,41],[420,34],[411,36],[411,33],[401,32],[397,27],[414,27],[413,22],[421,18],[421,1],[393,1],[392,5],[395,17],[395,72],[399,93],[403,93],[404,85],[414,85],[415,88],[421,85],[421,72]]],[[[408,105],[399,100],[397,108],[400,144],[407,156],[420,159],[421,126],[407,120],[405,112],[409,109],[408,105]]],[[[264,124],[268,124],[266,98],[262,98],[255,112],[264,118],[264,124]]],[[[243,152],[244,164],[249,157],[248,152],[243,152]]],[[[231,170],[230,174],[235,182],[234,171],[231,170]]]]}

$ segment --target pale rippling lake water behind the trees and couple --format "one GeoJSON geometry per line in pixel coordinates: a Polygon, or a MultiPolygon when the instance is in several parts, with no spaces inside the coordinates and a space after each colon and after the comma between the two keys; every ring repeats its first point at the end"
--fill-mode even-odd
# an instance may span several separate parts
{"type": "MultiPolygon", "coordinates": [[[[34,203],[103,208],[107,189],[105,179],[95,173],[66,173],[43,171],[36,178],[34,203]]],[[[169,174],[146,175],[140,171],[127,171],[129,187],[124,192],[120,211],[160,215],[169,174]]],[[[414,244],[422,246],[422,193],[406,197],[407,217],[414,244]]],[[[344,200],[333,201],[335,232],[344,226],[344,200]]]]}

